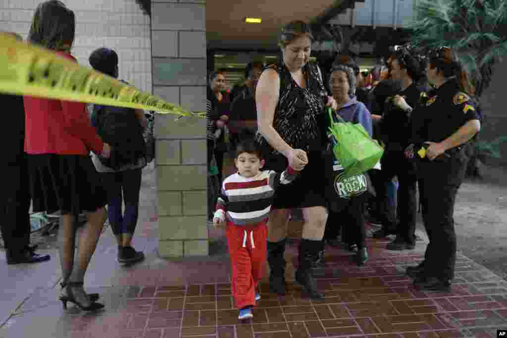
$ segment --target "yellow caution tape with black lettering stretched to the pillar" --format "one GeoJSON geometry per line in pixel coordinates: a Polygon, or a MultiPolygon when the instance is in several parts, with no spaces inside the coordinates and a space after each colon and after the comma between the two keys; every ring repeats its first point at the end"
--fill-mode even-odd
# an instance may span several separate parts
{"type": "Polygon", "coordinates": [[[0,92],[65,101],[154,110],[159,114],[206,118],[158,96],[124,84],[53,51],[0,33],[0,92]]]}

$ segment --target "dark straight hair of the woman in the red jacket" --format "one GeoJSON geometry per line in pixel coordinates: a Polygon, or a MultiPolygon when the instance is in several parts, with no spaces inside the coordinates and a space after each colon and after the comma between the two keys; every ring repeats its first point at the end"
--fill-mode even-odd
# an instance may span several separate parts
{"type": "Polygon", "coordinates": [[[48,49],[66,51],[74,44],[76,17],[61,1],[49,0],[33,14],[28,42],[48,49]]]}

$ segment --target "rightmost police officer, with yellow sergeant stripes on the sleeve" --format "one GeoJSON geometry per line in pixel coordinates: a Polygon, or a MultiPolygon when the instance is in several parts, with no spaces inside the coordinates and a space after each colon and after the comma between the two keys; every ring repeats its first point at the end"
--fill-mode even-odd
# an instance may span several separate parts
{"type": "Polygon", "coordinates": [[[405,155],[417,159],[429,244],[423,262],[407,268],[407,274],[418,289],[445,291],[456,262],[453,212],[468,161],[464,145],[480,131],[481,123],[470,98],[474,87],[450,48],[429,54],[427,77],[436,89],[413,113],[412,144],[405,155]]]}

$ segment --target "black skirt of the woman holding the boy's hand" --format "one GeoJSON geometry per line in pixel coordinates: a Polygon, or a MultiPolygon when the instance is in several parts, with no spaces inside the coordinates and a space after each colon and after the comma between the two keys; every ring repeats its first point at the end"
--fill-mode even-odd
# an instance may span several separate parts
{"type": "MultiPolygon", "coordinates": [[[[296,180],[287,185],[278,185],[275,191],[272,209],[292,209],[327,206],[325,199],[324,177],[325,161],[320,151],[307,152],[308,164],[296,180]]],[[[283,155],[271,155],[266,158],[264,170],[284,171],[288,161],[283,155]]]]}

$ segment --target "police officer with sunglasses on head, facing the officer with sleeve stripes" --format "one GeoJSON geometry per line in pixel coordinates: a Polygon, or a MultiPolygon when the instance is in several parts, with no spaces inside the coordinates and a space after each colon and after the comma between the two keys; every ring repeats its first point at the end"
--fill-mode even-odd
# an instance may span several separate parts
{"type": "Polygon", "coordinates": [[[425,92],[417,82],[424,68],[411,46],[394,46],[388,59],[389,78],[400,83],[401,90],[387,98],[385,111],[378,125],[379,138],[385,143],[380,171],[382,184],[378,194],[383,199],[382,229],[374,233],[375,238],[396,234],[396,239],[387,244],[388,250],[406,250],[415,247],[417,215],[417,173],[413,161],[405,157],[405,148],[411,138],[411,113],[417,108],[425,92]],[[387,185],[397,176],[400,183],[397,192],[400,222],[395,217],[394,206],[389,203],[387,185]]]}

